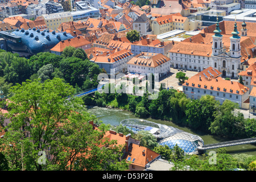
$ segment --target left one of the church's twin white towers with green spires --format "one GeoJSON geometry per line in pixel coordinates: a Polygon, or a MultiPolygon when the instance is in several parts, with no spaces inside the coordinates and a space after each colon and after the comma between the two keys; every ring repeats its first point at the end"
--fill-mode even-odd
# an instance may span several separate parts
{"type": "Polygon", "coordinates": [[[217,56],[223,52],[223,44],[222,44],[222,35],[219,24],[218,24],[218,17],[216,28],[213,31],[214,35],[212,36],[212,55],[217,56]]]}

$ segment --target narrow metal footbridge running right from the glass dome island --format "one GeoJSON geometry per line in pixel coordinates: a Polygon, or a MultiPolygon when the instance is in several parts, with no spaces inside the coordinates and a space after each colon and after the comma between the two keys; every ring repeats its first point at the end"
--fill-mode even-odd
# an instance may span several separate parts
{"type": "Polygon", "coordinates": [[[206,144],[204,146],[197,147],[197,149],[200,151],[203,151],[203,150],[209,150],[213,148],[230,147],[230,146],[237,146],[240,144],[250,144],[250,143],[256,143],[256,138],[246,138],[246,139],[239,139],[239,140],[231,140],[227,142],[206,144]]]}

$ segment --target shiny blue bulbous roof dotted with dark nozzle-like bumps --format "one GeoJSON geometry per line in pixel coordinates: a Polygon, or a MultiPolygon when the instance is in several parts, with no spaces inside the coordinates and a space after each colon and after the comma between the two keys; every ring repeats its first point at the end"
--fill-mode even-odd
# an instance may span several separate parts
{"type": "Polygon", "coordinates": [[[36,28],[19,30],[18,28],[13,34],[21,36],[22,43],[27,46],[30,53],[36,54],[38,52],[48,51],[52,47],[56,46],[61,40],[72,39],[73,36],[67,34],[67,32],[49,32],[49,30],[40,31],[36,28]]]}

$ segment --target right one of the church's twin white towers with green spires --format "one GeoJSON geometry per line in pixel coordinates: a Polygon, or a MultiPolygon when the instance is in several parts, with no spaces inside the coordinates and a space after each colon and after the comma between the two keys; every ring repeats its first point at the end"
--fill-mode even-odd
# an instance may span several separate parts
{"type": "Polygon", "coordinates": [[[234,30],[231,33],[232,37],[230,37],[230,57],[241,57],[241,46],[240,40],[241,37],[238,35],[239,32],[237,31],[237,22],[234,23],[234,30]]]}

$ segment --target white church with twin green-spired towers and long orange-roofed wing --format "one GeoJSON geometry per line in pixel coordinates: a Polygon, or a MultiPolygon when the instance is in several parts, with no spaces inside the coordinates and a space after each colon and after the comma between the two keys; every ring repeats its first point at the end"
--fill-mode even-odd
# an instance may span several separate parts
{"type": "Polygon", "coordinates": [[[176,44],[169,51],[172,67],[199,72],[212,67],[223,77],[237,78],[242,71],[241,36],[243,40],[247,36],[246,23],[243,21],[241,26],[241,34],[234,22],[231,35],[222,35],[217,21],[213,34],[192,36],[176,44]]]}

